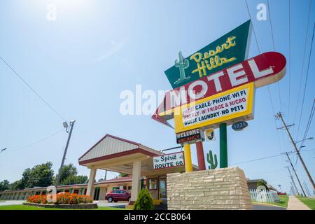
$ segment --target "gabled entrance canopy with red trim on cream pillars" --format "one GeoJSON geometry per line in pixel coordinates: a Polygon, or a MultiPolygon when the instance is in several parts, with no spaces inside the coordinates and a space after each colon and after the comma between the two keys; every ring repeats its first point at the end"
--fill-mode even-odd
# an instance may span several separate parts
{"type": "Polygon", "coordinates": [[[139,179],[141,176],[152,175],[155,172],[153,170],[153,156],[156,155],[162,155],[162,153],[137,142],[106,134],[78,159],[80,165],[90,168],[87,195],[92,196],[97,169],[106,169],[132,174],[131,201],[134,202],[140,188],[139,179]]]}

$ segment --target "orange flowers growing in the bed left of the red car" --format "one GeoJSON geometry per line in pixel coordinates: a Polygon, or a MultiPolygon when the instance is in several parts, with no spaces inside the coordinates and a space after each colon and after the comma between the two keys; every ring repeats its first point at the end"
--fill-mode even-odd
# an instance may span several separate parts
{"type": "MultiPolygon", "coordinates": [[[[34,195],[27,198],[27,202],[36,204],[47,204],[47,199],[45,195],[34,195]]],[[[92,203],[92,199],[87,195],[77,195],[70,193],[58,194],[56,197],[56,202],[53,204],[87,204],[92,203]]]]}

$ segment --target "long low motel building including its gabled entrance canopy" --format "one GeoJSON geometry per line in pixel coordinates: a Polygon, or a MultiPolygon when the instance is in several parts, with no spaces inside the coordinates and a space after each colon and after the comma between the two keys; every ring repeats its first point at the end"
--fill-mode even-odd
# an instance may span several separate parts
{"type": "MultiPolygon", "coordinates": [[[[131,193],[129,204],[132,205],[137,200],[137,195],[142,187],[148,188],[155,204],[166,204],[167,174],[185,172],[185,165],[154,169],[153,158],[160,155],[163,155],[161,151],[106,134],[78,159],[79,165],[90,169],[88,183],[58,186],[57,193],[90,195],[94,200],[102,201],[105,200],[106,193],[112,190],[128,190],[131,193]],[[98,169],[130,176],[95,183],[98,169]]],[[[193,170],[198,170],[198,167],[193,165],[193,170]]],[[[45,194],[46,188],[3,191],[0,193],[0,200],[26,200],[31,195],[45,194]]]]}

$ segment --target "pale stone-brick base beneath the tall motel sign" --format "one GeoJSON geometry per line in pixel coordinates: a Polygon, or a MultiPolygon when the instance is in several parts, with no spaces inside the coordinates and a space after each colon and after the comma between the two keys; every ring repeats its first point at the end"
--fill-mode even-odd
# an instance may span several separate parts
{"type": "Polygon", "coordinates": [[[238,167],[167,174],[167,209],[251,210],[246,177],[238,167]]]}

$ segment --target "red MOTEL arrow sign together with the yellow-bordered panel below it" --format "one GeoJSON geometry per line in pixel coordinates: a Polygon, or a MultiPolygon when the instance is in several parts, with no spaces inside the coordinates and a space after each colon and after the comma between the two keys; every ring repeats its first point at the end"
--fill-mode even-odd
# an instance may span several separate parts
{"type": "MultiPolygon", "coordinates": [[[[242,116],[244,116],[244,120],[251,120],[253,119],[252,104],[255,88],[275,83],[283,78],[285,73],[286,58],[279,52],[265,52],[170,90],[165,94],[163,102],[152,118],[165,125],[169,125],[167,120],[174,118],[176,133],[197,127],[216,127],[216,124],[225,120],[232,120],[242,116]],[[233,97],[233,94],[238,97],[233,97]],[[220,109],[218,106],[221,105],[222,107],[222,104],[219,104],[222,102],[223,105],[227,103],[226,106],[240,105],[237,105],[239,107],[236,106],[236,109],[234,107],[233,109],[226,109],[229,110],[227,111],[229,114],[221,114],[221,116],[216,116],[214,119],[199,120],[200,123],[195,122],[195,124],[190,119],[190,124],[188,124],[187,118],[189,116],[190,118],[196,118],[198,110],[202,109],[202,107],[209,109],[210,106],[217,106],[217,108],[212,108],[212,111],[214,109],[221,110],[222,108],[220,109]],[[243,109],[241,109],[242,107],[243,109]],[[190,112],[193,113],[193,116],[190,112]],[[183,114],[186,116],[183,116],[183,114]]],[[[195,121],[198,121],[198,119],[195,121]]]]}

